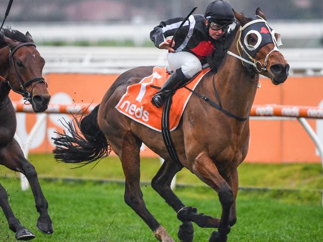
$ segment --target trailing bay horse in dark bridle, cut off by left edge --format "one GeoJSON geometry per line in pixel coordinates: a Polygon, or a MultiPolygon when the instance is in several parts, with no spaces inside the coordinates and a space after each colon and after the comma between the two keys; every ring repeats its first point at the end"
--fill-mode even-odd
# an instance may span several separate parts
{"type": "MultiPolygon", "coordinates": [[[[38,182],[35,168],[25,159],[13,137],[16,130],[16,116],[8,96],[12,90],[21,94],[26,102],[30,102],[34,112],[45,111],[50,95],[47,83],[42,77],[44,64],[45,60],[36,50],[28,32],[24,35],[10,28],[2,30],[0,33],[0,164],[26,176],[39,212],[36,227],[45,234],[52,234],[52,221],[47,211],[48,203],[38,182]]],[[[30,240],[35,237],[14,216],[8,203],[8,195],[1,184],[0,206],[17,240],[30,240]]]]}

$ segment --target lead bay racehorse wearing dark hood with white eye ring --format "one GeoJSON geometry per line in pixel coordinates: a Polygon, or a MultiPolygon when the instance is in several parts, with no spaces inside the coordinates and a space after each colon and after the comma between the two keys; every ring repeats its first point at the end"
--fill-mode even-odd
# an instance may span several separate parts
{"type": "Polygon", "coordinates": [[[153,67],[137,67],[121,74],[89,115],[68,122],[69,134],[54,138],[55,157],[66,163],[86,164],[108,155],[110,148],[119,156],[125,174],[125,202],[145,221],[162,242],[172,238],[146,208],[140,188],[140,146],[145,143],[165,159],[152,181],[153,188],[165,199],[182,221],[180,241],[193,240],[195,222],[200,227],[218,228],[209,241],[227,241],[230,227],[237,221],[236,198],[239,164],[249,144],[249,113],[255,97],[259,74],[274,85],[283,83],[289,65],[279,52],[279,35],[268,26],[260,8],[246,18],[235,12],[241,26],[218,72],[209,71],[199,82],[184,110],[178,127],[171,132],[178,166],[170,158],[161,133],[122,115],[115,108],[128,86],[152,74],[153,67]],[[219,110],[208,100],[218,103],[219,110]],[[83,136],[82,136],[83,135],[83,136]],[[170,182],[182,167],[211,186],[222,205],[221,218],[197,213],[185,206],[170,189],[170,182]]]}

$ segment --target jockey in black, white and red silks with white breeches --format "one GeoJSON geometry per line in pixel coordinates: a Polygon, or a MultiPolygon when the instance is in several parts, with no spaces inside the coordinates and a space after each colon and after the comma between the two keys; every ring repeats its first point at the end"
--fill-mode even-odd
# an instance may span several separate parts
{"type": "MultiPolygon", "coordinates": [[[[169,46],[171,40],[166,38],[174,35],[184,18],[162,21],[153,29],[150,38],[157,48],[168,50],[168,68],[173,71],[161,90],[152,98],[156,107],[161,107],[169,94],[200,72],[207,57],[219,54],[214,51],[224,52],[223,43],[234,18],[233,9],[228,2],[215,0],[207,6],[204,16],[189,16],[188,21],[175,35],[172,46],[169,46]]],[[[223,59],[224,54],[218,56],[223,59]]]]}

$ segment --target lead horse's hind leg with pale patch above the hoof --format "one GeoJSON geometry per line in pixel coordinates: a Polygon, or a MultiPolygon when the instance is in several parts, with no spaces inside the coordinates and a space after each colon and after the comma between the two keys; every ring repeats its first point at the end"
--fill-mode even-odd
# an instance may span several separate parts
{"type": "Polygon", "coordinates": [[[141,141],[138,138],[131,133],[125,134],[119,153],[126,178],[125,202],[145,221],[159,241],[173,242],[165,229],[148,211],[143,200],[140,189],[140,146],[141,141]]]}

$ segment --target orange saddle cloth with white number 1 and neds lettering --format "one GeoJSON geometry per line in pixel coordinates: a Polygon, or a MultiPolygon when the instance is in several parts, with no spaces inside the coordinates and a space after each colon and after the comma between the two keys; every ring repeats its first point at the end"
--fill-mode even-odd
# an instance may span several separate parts
{"type": "MultiPolygon", "coordinates": [[[[209,68],[203,69],[186,86],[194,90],[208,71],[210,71],[209,68]]],[[[143,78],[139,83],[127,87],[126,93],[122,96],[115,108],[130,119],[161,132],[163,106],[157,108],[151,103],[152,97],[158,92],[158,89],[151,86],[161,87],[169,75],[165,67],[154,67],[153,73],[150,76],[143,78]]],[[[192,93],[185,88],[178,89],[173,95],[173,104],[171,105],[169,114],[170,131],[177,127],[191,95],[192,93]]]]}

